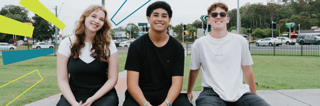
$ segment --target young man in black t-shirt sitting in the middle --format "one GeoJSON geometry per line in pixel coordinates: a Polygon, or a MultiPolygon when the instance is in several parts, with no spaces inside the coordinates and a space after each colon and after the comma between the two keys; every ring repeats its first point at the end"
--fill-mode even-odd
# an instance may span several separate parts
{"type": "Polygon", "coordinates": [[[130,44],[125,64],[127,86],[123,106],[191,106],[180,94],[184,48],[166,34],[172,10],[163,1],[147,8],[150,32],[130,44]]]}

